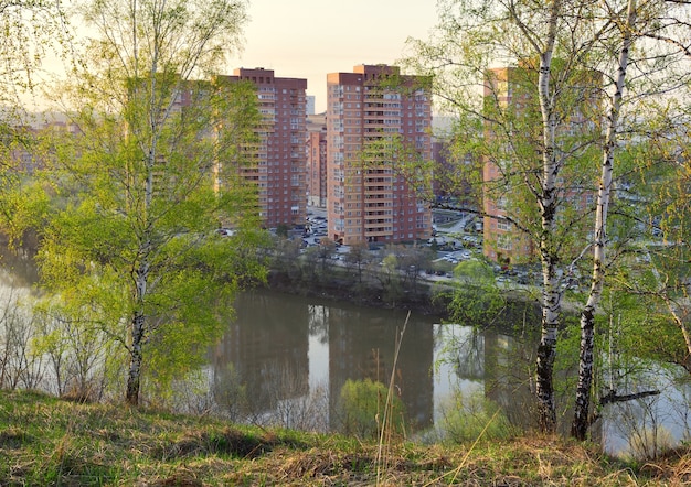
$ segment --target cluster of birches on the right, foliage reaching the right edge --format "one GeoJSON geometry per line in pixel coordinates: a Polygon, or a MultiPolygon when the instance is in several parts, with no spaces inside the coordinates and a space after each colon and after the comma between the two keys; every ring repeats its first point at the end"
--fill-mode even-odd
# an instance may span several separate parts
{"type": "Polygon", "coordinates": [[[585,439],[607,402],[637,396],[619,393],[616,381],[594,390],[610,324],[623,323],[607,320],[603,296],[616,300],[614,312],[639,339],[619,340],[620,350],[647,349],[689,369],[689,7],[443,0],[432,39],[408,43],[407,65],[456,116],[456,159],[471,161],[461,182],[444,167],[442,180],[472,183],[480,208],[483,198],[499,202],[540,261],[535,394],[545,431],[557,425],[554,367],[560,337],[571,333],[561,284],[576,270],[591,279],[580,306],[573,436],[585,439]],[[507,66],[509,74],[491,69],[507,66]],[[496,175],[483,177],[489,165],[496,175]],[[632,264],[636,256],[644,266],[632,264]]]}

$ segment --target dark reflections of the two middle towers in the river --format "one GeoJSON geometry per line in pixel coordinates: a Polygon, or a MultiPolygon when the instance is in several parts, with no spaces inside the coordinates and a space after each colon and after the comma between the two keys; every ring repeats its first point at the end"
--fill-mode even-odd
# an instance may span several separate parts
{"type": "MultiPolygon", "coordinates": [[[[321,387],[328,393],[329,421],[348,379],[389,382],[405,317],[270,291],[244,293],[235,321],[212,350],[213,375],[234,370],[255,415],[321,387]]],[[[408,420],[419,425],[433,421],[433,322],[411,317],[394,374],[408,420]]]]}

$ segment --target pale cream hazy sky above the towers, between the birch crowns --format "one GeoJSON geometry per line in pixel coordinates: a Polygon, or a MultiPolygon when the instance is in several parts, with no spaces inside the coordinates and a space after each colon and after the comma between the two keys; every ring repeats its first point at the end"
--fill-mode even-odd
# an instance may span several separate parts
{"type": "Polygon", "coordinates": [[[245,48],[237,67],[274,69],[306,78],[307,95],[326,109],[327,74],[359,64],[393,64],[405,40],[426,40],[437,20],[436,0],[251,0],[245,48]]]}

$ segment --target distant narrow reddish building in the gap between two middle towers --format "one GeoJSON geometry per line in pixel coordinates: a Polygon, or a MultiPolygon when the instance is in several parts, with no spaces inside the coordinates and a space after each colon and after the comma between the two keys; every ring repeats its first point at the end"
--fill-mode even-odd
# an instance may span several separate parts
{"type": "Polygon", "coordinates": [[[327,117],[307,117],[307,203],[327,207],[327,117]]]}

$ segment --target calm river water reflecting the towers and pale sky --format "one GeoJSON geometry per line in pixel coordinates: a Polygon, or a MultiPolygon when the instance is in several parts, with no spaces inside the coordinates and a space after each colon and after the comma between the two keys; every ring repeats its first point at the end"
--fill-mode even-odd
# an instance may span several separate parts
{"type": "MultiPolygon", "coordinates": [[[[30,259],[4,252],[3,295],[26,294],[36,278],[30,259]]],[[[213,404],[232,419],[330,431],[338,428],[341,388],[349,379],[365,378],[392,381],[411,435],[439,431],[446,414],[459,407],[451,399],[459,397],[470,409],[478,398],[489,400],[514,424],[530,424],[534,418],[534,342],[523,333],[535,329],[530,318],[521,326],[503,323],[478,331],[440,324],[433,316],[408,316],[405,310],[269,290],[242,293],[235,310],[235,320],[209,351],[203,392],[204,408],[213,404]]],[[[646,370],[627,378],[619,392],[659,389],[661,394],[609,405],[596,423],[593,434],[609,453],[650,454],[690,437],[688,375],[655,365],[646,370]]],[[[571,400],[570,394],[562,398],[566,405],[571,400]]],[[[567,423],[567,409],[560,411],[567,423]]]]}

